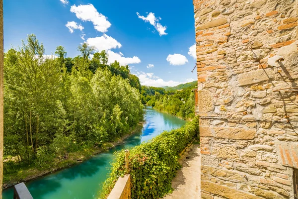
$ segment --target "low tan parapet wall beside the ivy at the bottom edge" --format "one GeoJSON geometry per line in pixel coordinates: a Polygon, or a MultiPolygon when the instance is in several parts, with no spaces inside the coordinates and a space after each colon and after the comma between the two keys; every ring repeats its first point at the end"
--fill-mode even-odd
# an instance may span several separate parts
{"type": "Polygon", "coordinates": [[[119,177],[108,199],[131,199],[131,176],[119,177]]]}

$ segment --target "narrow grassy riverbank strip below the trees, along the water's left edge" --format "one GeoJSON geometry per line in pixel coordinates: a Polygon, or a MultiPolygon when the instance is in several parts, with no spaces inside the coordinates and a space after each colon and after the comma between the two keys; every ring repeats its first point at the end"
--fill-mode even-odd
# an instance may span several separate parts
{"type": "Polygon", "coordinates": [[[24,168],[23,170],[20,170],[17,173],[13,173],[9,177],[4,176],[2,188],[6,189],[6,188],[12,187],[18,183],[28,182],[28,181],[34,180],[36,178],[46,176],[50,173],[62,170],[64,168],[74,166],[75,164],[82,163],[83,161],[86,161],[103,151],[106,151],[110,148],[113,148],[113,147],[121,144],[123,142],[123,140],[125,140],[130,135],[132,135],[138,131],[141,131],[143,128],[143,124],[144,124],[144,122],[139,122],[139,124],[130,133],[124,135],[121,138],[118,138],[114,142],[104,143],[102,145],[102,147],[100,147],[100,148],[92,147],[89,149],[84,149],[84,151],[71,152],[68,154],[68,157],[66,159],[60,160],[60,159],[56,158],[54,160],[54,164],[48,166],[47,168],[37,168],[37,167],[30,167],[29,169],[24,168]]]}

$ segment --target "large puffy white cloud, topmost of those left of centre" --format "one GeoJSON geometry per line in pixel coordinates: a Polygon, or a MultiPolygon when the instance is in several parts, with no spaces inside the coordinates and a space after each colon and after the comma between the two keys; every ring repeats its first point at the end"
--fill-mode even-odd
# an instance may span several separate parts
{"type": "Polygon", "coordinates": [[[99,13],[92,4],[87,5],[73,5],[71,12],[75,13],[75,16],[82,21],[91,21],[95,30],[99,32],[107,32],[111,23],[107,20],[107,17],[99,13]]]}

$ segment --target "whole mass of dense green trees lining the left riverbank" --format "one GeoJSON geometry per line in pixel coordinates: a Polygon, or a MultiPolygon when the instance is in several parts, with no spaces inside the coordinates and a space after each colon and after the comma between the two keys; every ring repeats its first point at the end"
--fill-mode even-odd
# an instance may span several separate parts
{"type": "Polygon", "coordinates": [[[113,141],[143,116],[139,79],[86,43],[46,56],[35,35],[4,58],[4,175],[113,141]],[[94,53],[92,59],[89,55],[94,53]]]}

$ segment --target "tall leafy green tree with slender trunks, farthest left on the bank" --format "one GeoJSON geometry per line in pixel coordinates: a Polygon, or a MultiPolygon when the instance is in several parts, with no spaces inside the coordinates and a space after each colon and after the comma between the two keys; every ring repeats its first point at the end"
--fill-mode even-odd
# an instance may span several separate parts
{"type": "Polygon", "coordinates": [[[19,51],[10,49],[5,56],[5,100],[9,101],[4,112],[5,125],[9,129],[7,136],[15,137],[10,141],[15,143],[16,153],[21,157],[25,154],[20,141],[30,145],[35,153],[53,137],[50,129],[56,126],[61,72],[57,62],[45,57],[44,52],[43,45],[31,34],[19,51]],[[18,125],[11,128],[13,120],[18,125]]]}

